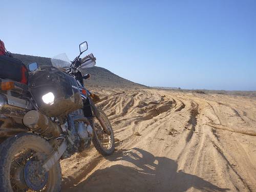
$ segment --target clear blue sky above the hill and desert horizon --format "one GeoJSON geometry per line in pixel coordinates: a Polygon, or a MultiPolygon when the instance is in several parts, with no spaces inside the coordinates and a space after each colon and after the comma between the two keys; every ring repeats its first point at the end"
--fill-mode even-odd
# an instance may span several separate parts
{"type": "Polygon", "coordinates": [[[0,1],[13,53],[78,55],[147,86],[256,90],[256,1],[0,1]]]}

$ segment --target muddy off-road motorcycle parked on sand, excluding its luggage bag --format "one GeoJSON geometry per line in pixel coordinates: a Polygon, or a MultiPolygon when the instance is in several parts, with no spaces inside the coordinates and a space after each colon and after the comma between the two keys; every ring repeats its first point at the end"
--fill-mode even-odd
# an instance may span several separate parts
{"type": "Polygon", "coordinates": [[[81,70],[96,63],[86,41],[71,62],[52,58],[53,66],[30,63],[28,85],[1,80],[0,191],[60,191],[59,161],[94,144],[113,154],[114,133],[108,117],[95,106],[96,94],[84,87],[81,70]]]}

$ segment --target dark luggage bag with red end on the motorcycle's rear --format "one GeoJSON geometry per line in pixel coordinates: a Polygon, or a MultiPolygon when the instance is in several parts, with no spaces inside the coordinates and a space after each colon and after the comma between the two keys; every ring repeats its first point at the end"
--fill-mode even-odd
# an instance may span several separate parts
{"type": "Polygon", "coordinates": [[[27,83],[28,69],[22,61],[0,55],[0,78],[27,83]]]}

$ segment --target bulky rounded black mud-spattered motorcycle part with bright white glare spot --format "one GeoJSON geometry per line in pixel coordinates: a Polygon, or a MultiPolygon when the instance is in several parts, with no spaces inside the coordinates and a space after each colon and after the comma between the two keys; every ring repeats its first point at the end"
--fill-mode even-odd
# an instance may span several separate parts
{"type": "Polygon", "coordinates": [[[52,66],[40,66],[29,75],[29,87],[39,110],[49,117],[68,115],[81,109],[76,80],[52,66]]]}

